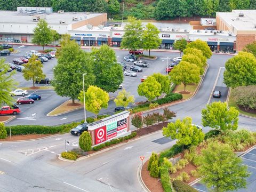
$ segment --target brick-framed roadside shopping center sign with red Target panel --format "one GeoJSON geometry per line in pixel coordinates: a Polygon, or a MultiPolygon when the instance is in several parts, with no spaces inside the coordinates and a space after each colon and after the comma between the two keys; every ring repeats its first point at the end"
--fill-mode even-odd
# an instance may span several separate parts
{"type": "Polygon", "coordinates": [[[130,111],[122,111],[121,113],[88,124],[88,132],[92,137],[92,145],[97,146],[106,141],[131,134],[129,114],[130,111]]]}

